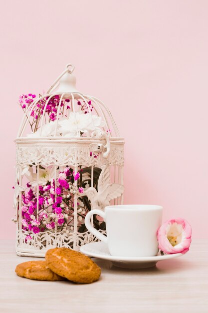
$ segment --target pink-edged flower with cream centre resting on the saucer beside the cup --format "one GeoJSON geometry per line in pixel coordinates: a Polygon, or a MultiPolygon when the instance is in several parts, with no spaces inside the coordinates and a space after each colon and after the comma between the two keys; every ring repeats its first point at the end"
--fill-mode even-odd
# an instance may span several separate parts
{"type": "Polygon", "coordinates": [[[167,253],[186,253],[191,244],[192,227],[186,219],[167,220],[157,231],[159,248],[167,253]]]}

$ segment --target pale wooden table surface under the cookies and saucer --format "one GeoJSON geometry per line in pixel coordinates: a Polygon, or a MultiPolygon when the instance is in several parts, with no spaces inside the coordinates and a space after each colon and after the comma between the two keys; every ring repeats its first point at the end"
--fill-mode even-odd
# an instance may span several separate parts
{"type": "Polygon", "coordinates": [[[208,240],[147,269],[122,269],[94,259],[97,282],[36,281],[18,277],[18,263],[40,258],[17,256],[13,241],[1,241],[0,312],[194,312],[208,313],[208,240]]]}

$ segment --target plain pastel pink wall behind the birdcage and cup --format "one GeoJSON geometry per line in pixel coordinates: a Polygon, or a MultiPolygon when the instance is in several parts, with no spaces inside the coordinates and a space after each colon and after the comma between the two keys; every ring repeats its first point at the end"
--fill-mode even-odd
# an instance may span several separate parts
{"type": "Polygon", "coordinates": [[[164,206],[208,237],[208,1],[1,1],[1,238],[13,238],[18,95],[75,64],[125,136],[125,203],[164,206]]]}

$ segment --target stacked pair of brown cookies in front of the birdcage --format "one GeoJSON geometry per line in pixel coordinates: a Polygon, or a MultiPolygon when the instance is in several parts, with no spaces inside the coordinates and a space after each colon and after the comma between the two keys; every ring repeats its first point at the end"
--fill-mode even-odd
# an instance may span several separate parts
{"type": "Polygon", "coordinates": [[[90,283],[100,277],[100,267],[88,256],[69,248],[49,249],[45,261],[28,261],[16,266],[18,276],[36,280],[90,283]]]}

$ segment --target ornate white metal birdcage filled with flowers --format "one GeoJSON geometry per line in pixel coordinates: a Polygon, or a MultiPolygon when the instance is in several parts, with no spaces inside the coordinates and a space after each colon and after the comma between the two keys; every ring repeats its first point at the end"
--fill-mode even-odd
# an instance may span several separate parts
{"type": "MultiPolygon", "coordinates": [[[[123,203],[124,139],[105,104],[77,91],[73,70],[67,64],[46,94],[29,94],[22,105],[15,140],[18,255],[78,250],[97,240],[85,227],[85,214],[123,203]]],[[[98,217],[92,224],[105,232],[98,217]]]]}

